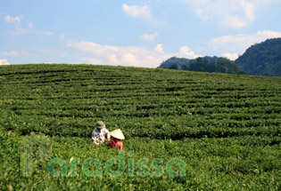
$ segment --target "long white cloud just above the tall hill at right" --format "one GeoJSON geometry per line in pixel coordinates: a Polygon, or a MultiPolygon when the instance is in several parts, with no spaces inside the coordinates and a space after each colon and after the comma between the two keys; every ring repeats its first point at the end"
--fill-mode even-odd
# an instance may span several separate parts
{"type": "Polygon", "coordinates": [[[271,30],[258,31],[256,34],[221,36],[207,42],[205,48],[216,52],[238,52],[242,54],[252,44],[261,43],[268,38],[281,37],[281,32],[271,30]]]}

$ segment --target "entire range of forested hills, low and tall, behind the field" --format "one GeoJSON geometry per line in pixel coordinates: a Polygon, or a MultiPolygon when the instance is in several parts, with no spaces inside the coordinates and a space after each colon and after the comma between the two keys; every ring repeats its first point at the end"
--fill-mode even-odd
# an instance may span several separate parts
{"type": "Polygon", "coordinates": [[[158,68],[238,75],[281,76],[281,38],[253,44],[235,61],[217,56],[205,56],[194,60],[172,57],[161,62],[158,68]]]}

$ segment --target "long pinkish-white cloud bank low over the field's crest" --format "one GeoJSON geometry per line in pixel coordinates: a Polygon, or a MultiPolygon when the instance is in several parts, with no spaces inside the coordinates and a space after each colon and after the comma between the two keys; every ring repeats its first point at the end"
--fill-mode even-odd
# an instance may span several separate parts
{"type": "Polygon", "coordinates": [[[156,68],[163,60],[176,56],[187,59],[194,59],[197,55],[192,51],[167,53],[163,51],[163,45],[157,44],[152,49],[144,46],[111,46],[91,42],[68,42],[67,46],[75,50],[78,57],[83,58],[88,64],[98,65],[120,65],[145,68],[156,68]]]}

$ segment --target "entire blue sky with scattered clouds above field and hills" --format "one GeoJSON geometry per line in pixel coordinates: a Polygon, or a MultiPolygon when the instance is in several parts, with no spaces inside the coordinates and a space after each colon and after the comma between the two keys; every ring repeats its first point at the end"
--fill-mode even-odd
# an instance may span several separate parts
{"type": "Polygon", "coordinates": [[[157,68],[281,37],[281,0],[1,0],[0,65],[157,68]]]}

